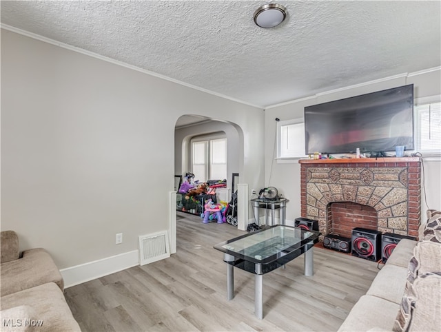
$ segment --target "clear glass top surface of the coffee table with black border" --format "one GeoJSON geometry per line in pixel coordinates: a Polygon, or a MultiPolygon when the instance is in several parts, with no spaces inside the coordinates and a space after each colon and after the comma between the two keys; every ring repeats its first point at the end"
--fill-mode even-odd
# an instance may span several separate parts
{"type": "Polygon", "coordinates": [[[267,264],[318,238],[318,231],[275,225],[215,245],[214,248],[249,262],[267,264]]]}

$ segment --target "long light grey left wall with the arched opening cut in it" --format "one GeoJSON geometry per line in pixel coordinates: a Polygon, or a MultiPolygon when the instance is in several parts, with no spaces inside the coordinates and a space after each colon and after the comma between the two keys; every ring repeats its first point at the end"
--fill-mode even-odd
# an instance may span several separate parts
{"type": "Polygon", "coordinates": [[[263,110],[2,30],[1,229],[60,269],[138,249],[170,227],[183,114],[236,123],[241,181],[263,182],[263,110]]]}

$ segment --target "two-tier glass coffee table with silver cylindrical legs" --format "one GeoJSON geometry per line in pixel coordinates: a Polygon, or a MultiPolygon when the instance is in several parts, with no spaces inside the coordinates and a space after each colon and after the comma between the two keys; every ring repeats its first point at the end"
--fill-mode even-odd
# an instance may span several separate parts
{"type": "Polygon", "coordinates": [[[263,275],[305,253],[305,276],[314,274],[314,242],[318,231],[275,225],[218,243],[227,263],[227,300],[234,298],[234,267],[255,276],[254,313],[263,318],[263,275]]]}

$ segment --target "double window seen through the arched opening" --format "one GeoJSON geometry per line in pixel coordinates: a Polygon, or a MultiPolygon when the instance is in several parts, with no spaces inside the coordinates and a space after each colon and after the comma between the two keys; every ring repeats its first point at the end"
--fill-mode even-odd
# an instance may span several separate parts
{"type": "Polygon", "coordinates": [[[227,138],[192,140],[192,172],[201,182],[227,178],[227,138]]]}

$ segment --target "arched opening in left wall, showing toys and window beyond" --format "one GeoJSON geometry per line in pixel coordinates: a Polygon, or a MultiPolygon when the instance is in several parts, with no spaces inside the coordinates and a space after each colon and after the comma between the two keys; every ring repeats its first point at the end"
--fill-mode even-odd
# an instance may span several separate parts
{"type": "Polygon", "coordinates": [[[207,200],[227,206],[233,179],[238,183],[233,174],[239,173],[239,141],[238,129],[232,123],[189,115],[178,119],[175,176],[181,175],[183,184],[176,194],[176,211],[198,216],[203,222],[207,200]]]}

